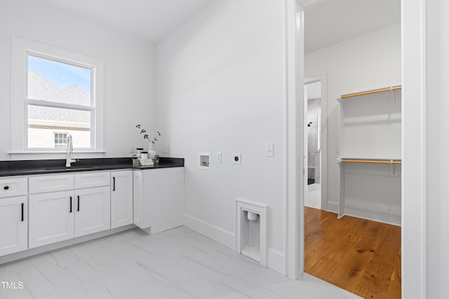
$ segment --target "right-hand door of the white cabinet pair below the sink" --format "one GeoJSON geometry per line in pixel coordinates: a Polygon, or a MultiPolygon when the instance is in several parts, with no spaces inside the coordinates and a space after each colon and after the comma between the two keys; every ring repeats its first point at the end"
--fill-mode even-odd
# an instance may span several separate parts
{"type": "Polygon", "coordinates": [[[75,237],[111,228],[111,188],[75,190],[75,237]]]}

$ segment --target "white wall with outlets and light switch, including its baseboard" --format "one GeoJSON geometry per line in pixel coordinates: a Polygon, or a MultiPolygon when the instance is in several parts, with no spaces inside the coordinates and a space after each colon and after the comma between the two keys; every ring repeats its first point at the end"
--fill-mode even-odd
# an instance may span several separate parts
{"type": "MultiPolygon", "coordinates": [[[[213,1],[157,45],[158,127],[185,158],[185,225],[235,248],[236,198],[269,205],[268,265],[285,253],[283,1],[213,1]],[[274,143],[274,158],[265,144],[274,143]],[[222,152],[222,163],[215,153],[222,152]],[[211,170],[197,167],[211,152],[211,170]],[[241,153],[241,165],[232,164],[241,153]]],[[[160,151],[160,150],[159,150],[160,151]]]]}

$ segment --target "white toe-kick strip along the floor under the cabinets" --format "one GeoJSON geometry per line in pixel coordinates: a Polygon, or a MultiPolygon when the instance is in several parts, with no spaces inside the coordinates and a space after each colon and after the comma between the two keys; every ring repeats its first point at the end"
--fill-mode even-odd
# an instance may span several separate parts
{"type": "Polygon", "coordinates": [[[39,246],[39,247],[32,248],[32,249],[27,249],[25,251],[11,253],[11,254],[8,254],[7,256],[0,257],[0,265],[4,264],[4,263],[10,263],[14,260],[20,260],[22,258],[29,258],[30,256],[36,256],[38,254],[46,253],[48,251],[61,249],[61,248],[67,247],[67,246],[72,246],[72,245],[79,244],[82,242],[91,241],[93,239],[98,239],[100,237],[114,235],[118,232],[124,232],[125,230],[131,230],[133,228],[136,228],[136,226],[134,224],[129,224],[129,225],[122,226],[120,228],[113,228],[112,230],[104,230],[102,232],[95,232],[95,234],[86,235],[86,236],[82,236],[82,237],[76,237],[74,239],[68,239],[65,241],[58,242],[58,243],[48,244],[48,245],[39,246]]]}

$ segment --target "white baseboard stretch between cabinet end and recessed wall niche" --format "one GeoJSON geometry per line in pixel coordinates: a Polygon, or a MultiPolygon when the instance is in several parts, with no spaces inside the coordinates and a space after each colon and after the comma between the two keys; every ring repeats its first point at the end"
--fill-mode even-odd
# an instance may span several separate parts
{"type": "Polygon", "coordinates": [[[187,228],[199,232],[201,235],[213,239],[215,242],[223,244],[232,250],[236,250],[236,235],[234,232],[230,232],[229,230],[220,228],[220,226],[208,223],[186,213],[182,215],[182,223],[187,228]]]}

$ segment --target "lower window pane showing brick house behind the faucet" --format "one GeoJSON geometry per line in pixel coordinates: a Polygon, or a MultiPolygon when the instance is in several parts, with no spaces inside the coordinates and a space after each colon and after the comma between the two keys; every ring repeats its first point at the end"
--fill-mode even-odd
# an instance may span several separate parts
{"type": "Polygon", "coordinates": [[[91,148],[91,111],[28,105],[28,148],[65,148],[67,133],[74,148],[91,148]]]}

